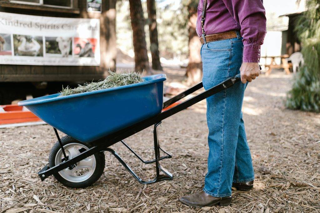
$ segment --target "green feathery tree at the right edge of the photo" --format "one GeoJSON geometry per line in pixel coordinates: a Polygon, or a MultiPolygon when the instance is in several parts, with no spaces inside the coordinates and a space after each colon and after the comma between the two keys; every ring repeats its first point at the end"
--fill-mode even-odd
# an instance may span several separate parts
{"type": "MultiPolygon", "coordinates": [[[[299,1],[298,1],[299,2],[299,1]]],[[[307,0],[307,11],[296,20],[295,30],[302,43],[304,65],[294,78],[286,106],[320,111],[320,0],[307,0]]]]}

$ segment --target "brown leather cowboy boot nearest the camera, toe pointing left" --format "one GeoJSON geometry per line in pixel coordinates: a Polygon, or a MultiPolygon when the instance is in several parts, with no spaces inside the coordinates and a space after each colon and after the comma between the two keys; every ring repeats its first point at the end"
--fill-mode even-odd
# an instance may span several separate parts
{"type": "Polygon", "coordinates": [[[204,191],[196,194],[180,197],[180,202],[188,206],[204,207],[219,204],[220,206],[228,206],[231,202],[232,196],[227,197],[213,197],[204,191]]]}

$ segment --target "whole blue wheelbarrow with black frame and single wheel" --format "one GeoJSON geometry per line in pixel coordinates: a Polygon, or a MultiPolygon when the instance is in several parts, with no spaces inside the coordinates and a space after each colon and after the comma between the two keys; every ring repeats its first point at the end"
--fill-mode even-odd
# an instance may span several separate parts
{"type": "Polygon", "coordinates": [[[43,181],[53,175],[68,187],[91,186],[103,173],[104,151],[108,151],[141,184],[172,180],[172,174],[159,163],[162,159],[171,158],[171,155],[160,148],[157,127],[165,118],[233,86],[240,80],[240,75],[229,78],[168,110],[163,109],[202,88],[203,84],[200,82],[163,103],[165,80],[165,74],[152,75],[144,77],[143,82],[136,84],[68,96],[60,96],[58,93],[19,102],[20,106],[27,107],[51,125],[58,139],[51,149],[49,163],[38,172],[40,179],[43,181]],[[124,139],[149,126],[153,126],[155,158],[145,161],[124,139]],[[60,139],[57,129],[67,135],[60,139]],[[144,181],[134,173],[129,165],[109,148],[117,142],[123,143],[143,163],[155,163],[156,177],[144,181]],[[164,152],[164,156],[160,156],[160,150],[164,152]],[[163,174],[160,174],[160,171],[163,174]]]}

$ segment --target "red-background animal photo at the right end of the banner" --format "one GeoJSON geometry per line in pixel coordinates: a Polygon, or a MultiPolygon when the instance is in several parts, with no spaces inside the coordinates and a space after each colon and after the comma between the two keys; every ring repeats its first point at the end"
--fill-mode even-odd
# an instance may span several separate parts
{"type": "Polygon", "coordinates": [[[75,57],[94,57],[96,45],[95,38],[74,38],[75,57]]]}

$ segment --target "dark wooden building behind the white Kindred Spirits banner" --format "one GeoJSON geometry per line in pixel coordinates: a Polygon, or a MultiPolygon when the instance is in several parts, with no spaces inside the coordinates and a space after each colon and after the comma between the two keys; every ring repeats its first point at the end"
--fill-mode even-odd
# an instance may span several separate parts
{"type": "Polygon", "coordinates": [[[104,78],[109,69],[115,70],[116,0],[102,0],[100,13],[88,12],[87,4],[87,0],[0,0],[0,12],[100,19],[100,66],[0,64],[0,84],[1,82],[92,81],[104,78]]]}

